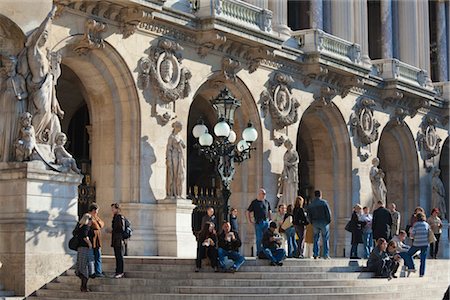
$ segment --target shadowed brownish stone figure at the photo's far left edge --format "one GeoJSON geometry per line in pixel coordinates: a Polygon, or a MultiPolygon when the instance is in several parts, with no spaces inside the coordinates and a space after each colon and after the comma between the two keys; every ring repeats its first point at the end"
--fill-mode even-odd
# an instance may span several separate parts
{"type": "Polygon", "coordinates": [[[17,57],[2,56],[0,69],[0,161],[14,159],[14,141],[19,135],[19,119],[26,111],[25,79],[17,73],[17,57]]]}

